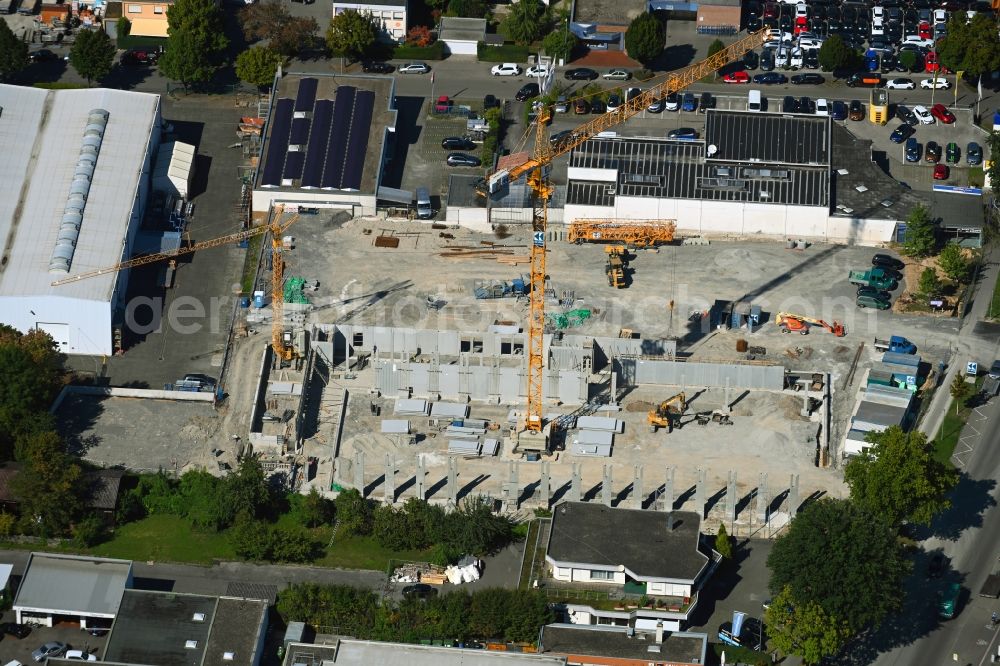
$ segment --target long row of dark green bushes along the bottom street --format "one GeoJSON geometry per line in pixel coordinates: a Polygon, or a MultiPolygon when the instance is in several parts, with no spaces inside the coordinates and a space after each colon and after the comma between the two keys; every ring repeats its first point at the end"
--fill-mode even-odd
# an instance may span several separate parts
{"type": "Polygon", "coordinates": [[[298,583],[278,595],[276,607],[286,623],[306,622],[323,632],[403,643],[428,638],[534,642],[541,627],[554,621],[543,593],[498,588],[380,604],[368,590],[298,583]]]}

